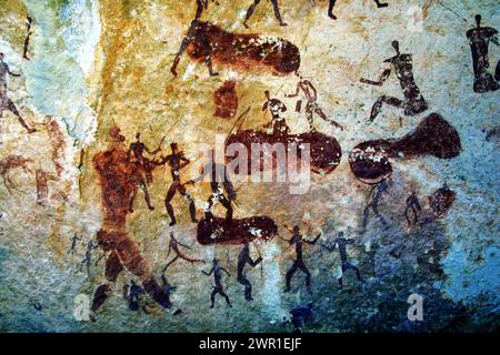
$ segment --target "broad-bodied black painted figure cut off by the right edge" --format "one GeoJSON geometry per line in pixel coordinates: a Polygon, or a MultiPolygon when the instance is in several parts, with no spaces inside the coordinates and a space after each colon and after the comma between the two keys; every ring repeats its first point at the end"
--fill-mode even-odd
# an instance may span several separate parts
{"type": "Polygon", "coordinates": [[[490,42],[500,45],[498,40],[498,31],[490,27],[481,27],[481,16],[476,16],[477,28],[467,31],[470,49],[472,51],[472,65],[474,70],[474,91],[484,93],[497,91],[500,84],[500,61],[497,63],[496,78],[488,72],[490,60],[488,50],[490,42]],[[496,81],[497,80],[497,81],[496,81]]]}

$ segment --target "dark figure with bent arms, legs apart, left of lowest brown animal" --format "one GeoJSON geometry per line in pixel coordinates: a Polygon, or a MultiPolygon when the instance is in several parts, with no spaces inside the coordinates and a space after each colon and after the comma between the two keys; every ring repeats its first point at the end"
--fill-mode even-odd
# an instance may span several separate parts
{"type": "Polygon", "coordinates": [[[194,200],[190,194],[186,191],[184,184],[180,181],[180,170],[186,168],[190,162],[187,158],[184,158],[184,153],[182,151],[178,151],[177,143],[171,143],[170,148],[172,150],[172,154],[167,155],[160,163],[163,164],[168,162],[170,166],[170,173],[172,176],[172,184],[167,191],[167,196],[164,197],[164,206],[167,209],[167,213],[170,216],[170,225],[174,225],[177,223],[176,214],[173,212],[172,204],[170,203],[179,192],[183,197],[186,197],[189,202],[189,214],[191,215],[191,221],[197,223],[197,210],[194,206],[194,200]]]}

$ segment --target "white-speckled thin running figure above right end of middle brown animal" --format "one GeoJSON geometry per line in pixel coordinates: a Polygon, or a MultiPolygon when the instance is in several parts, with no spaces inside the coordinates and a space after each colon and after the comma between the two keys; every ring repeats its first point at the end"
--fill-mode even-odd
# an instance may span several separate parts
{"type": "MultiPolygon", "coordinates": [[[[299,95],[299,93],[302,91],[302,93],[306,97],[307,103],[306,103],[306,116],[308,119],[309,122],[309,128],[311,132],[316,132],[316,128],[314,128],[314,122],[313,122],[313,114],[318,114],[321,119],[323,119],[324,121],[329,122],[331,125],[343,130],[343,126],[340,125],[339,123],[337,123],[334,120],[331,120],[329,118],[327,118],[327,115],[324,114],[323,110],[321,110],[321,108],[319,106],[317,99],[318,99],[318,94],[316,91],[314,85],[312,84],[312,82],[310,82],[307,79],[302,78],[302,74],[300,72],[296,72],[296,75],[299,78],[299,82],[297,83],[297,89],[294,93],[291,94],[286,94],[286,98],[297,98],[299,95]]],[[[296,106],[296,111],[300,112],[301,111],[301,105],[302,105],[302,100],[298,100],[297,101],[297,106],[296,106]]]]}

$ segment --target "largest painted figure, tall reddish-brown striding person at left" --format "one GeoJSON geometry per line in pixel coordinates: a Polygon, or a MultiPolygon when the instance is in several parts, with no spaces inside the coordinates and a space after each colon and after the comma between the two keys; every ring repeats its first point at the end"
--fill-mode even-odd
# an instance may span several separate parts
{"type": "Polygon", "coordinates": [[[152,300],[164,308],[171,308],[169,295],[163,293],[138,244],[127,231],[130,199],[137,194],[138,186],[143,184],[142,174],[137,164],[130,162],[127,156],[124,136],[120,129],[111,128],[109,148],[98,152],[92,160],[102,191],[103,219],[97,239],[99,246],[108,255],[104,272],[107,283],[96,290],[91,311],[96,313],[102,307],[111,294],[112,284],[124,268],[139,277],[142,288],[152,300]]]}

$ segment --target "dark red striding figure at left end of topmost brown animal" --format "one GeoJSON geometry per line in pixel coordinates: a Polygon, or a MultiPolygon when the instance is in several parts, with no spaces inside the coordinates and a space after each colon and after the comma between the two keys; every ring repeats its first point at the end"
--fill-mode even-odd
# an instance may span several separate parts
{"type": "MultiPolygon", "coordinates": [[[[212,2],[218,4],[218,2],[213,0],[212,2]]],[[[184,53],[189,44],[194,40],[202,43],[203,48],[209,52],[204,57],[204,63],[207,64],[210,77],[219,75],[219,73],[213,71],[210,39],[208,38],[206,31],[203,31],[203,27],[200,22],[201,14],[203,13],[203,10],[207,9],[208,9],[208,0],[197,0],[197,12],[194,14],[194,19],[191,21],[188,33],[183,38],[179,51],[177,52],[176,58],[173,59],[172,67],[170,68],[170,72],[173,74],[173,77],[177,77],[177,65],[180,62],[181,55],[184,53]]]]}

